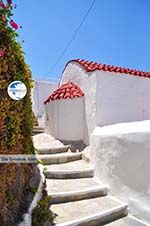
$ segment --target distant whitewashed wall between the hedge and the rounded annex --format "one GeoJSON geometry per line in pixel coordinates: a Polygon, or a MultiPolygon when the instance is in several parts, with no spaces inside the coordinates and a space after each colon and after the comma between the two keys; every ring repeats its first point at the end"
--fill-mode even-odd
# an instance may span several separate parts
{"type": "Polygon", "coordinates": [[[58,85],[49,81],[34,81],[32,89],[33,111],[37,117],[44,113],[44,101],[57,89],[58,85]]]}

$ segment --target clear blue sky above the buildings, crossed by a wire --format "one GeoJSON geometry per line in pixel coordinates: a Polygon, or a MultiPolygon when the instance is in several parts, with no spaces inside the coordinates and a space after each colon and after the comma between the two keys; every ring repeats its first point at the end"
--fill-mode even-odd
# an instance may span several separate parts
{"type": "Polygon", "coordinates": [[[70,59],[150,71],[150,1],[96,0],[61,61],[50,72],[92,0],[16,0],[14,19],[34,79],[57,80],[70,59]]]}

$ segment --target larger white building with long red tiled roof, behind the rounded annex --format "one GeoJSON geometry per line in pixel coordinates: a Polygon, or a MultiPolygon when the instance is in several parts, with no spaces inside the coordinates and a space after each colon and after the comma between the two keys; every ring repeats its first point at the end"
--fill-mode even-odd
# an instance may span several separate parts
{"type": "Polygon", "coordinates": [[[150,73],[93,63],[69,61],[61,84],[71,80],[85,93],[89,137],[94,128],[150,119],[150,73]]]}

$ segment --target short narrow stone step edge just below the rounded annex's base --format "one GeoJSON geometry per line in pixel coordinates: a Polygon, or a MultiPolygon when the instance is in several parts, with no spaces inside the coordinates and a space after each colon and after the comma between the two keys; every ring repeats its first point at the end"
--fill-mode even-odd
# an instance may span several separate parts
{"type": "Polygon", "coordinates": [[[58,154],[67,152],[71,145],[64,145],[64,146],[56,146],[56,147],[40,147],[36,148],[38,154],[58,154]]]}

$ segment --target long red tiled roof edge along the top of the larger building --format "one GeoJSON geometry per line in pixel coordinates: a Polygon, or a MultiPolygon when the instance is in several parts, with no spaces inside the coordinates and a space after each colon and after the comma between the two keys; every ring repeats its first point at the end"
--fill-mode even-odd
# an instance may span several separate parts
{"type": "Polygon", "coordinates": [[[71,62],[78,63],[87,72],[93,72],[96,70],[100,70],[100,71],[124,73],[124,74],[131,74],[131,75],[135,75],[135,76],[142,76],[142,77],[150,78],[150,72],[144,72],[144,71],[139,71],[139,70],[130,69],[130,68],[124,68],[124,67],[118,67],[118,66],[113,66],[113,65],[108,65],[108,64],[100,64],[100,63],[95,63],[92,61],[81,60],[81,59],[71,60],[67,63],[67,65],[71,62]]]}

